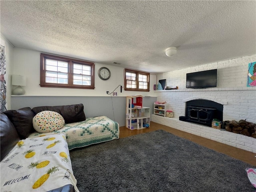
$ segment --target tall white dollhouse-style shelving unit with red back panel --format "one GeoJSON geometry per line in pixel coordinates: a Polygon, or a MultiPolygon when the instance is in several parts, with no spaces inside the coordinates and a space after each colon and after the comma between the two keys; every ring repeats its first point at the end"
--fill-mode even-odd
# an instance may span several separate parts
{"type": "Polygon", "coordinates": [[[150,108],[142,106],[142,96],[126,96],[126,128],[130,130],[150,127],[150,108]]]}

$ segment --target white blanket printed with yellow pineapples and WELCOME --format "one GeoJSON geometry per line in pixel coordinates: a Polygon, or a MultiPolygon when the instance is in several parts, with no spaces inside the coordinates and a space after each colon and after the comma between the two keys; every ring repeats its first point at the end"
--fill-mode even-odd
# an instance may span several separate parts
{"type": "Polygon", "coordinates": [[[20,140],[0,165],[0,191],[47,192],[64,187],[79,192],[65,133],[20,140]]]}

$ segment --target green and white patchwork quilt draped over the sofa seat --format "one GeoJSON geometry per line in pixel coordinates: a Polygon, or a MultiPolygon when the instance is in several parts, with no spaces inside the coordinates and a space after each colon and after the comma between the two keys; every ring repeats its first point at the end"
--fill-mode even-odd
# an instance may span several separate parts
{"type": "MultiPolygon", "coordinates": [[[[65,124],[55,133],[66,133],[69,150],[119,138],[119,124],[106,116],[87,118],[85,121],[65,124]]],[[[34,132],[32,136],[48,135],[34,132]]]]}

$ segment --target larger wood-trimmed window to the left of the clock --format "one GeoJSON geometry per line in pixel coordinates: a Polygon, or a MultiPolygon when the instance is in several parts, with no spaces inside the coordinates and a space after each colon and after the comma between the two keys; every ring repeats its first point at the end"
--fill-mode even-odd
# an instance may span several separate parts
{"type": "Polygon", "coordinates": [[[41,53],[40,86],[94,89],[94,63],[41,53]]]}

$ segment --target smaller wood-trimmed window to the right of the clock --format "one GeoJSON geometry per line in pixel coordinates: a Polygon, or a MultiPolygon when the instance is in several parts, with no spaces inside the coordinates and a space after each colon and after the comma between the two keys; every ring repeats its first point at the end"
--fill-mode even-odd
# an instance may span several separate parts
{"type": "Polygon", "coordinates": [[[150,74],[142,71],[124,69],[124,90],[149,91],[150,74]]]}

